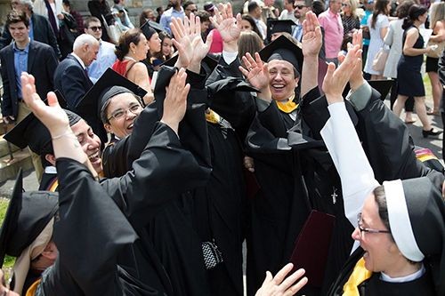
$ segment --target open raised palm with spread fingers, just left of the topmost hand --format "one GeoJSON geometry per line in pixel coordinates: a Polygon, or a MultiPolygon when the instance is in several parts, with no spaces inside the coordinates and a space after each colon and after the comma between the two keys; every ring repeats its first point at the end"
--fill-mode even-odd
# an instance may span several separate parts
{"type": "Polygon", "coordinates": [[[187,68],[190,65],[197,65],[206,57],[210,50],[213,35],[209,34],[206,43],[201,38],[201,21],[198,16],[190,13],[190,19],[172,19],[172,32],[174,34],[173,43],[178,49],[178,64],[187,68]]]}

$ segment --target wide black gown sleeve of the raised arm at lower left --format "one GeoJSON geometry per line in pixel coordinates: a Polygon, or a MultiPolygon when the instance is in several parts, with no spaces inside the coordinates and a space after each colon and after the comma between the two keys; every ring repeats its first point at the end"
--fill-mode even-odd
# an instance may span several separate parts
{"type": "Polygon", "coordinates": [[[53,240],[59,257],[39,289],[45,295],[122,295],[117,253],[137,239],[134,229],[85,165],[68,158],[56,165],[60,205],[53,240]]]}

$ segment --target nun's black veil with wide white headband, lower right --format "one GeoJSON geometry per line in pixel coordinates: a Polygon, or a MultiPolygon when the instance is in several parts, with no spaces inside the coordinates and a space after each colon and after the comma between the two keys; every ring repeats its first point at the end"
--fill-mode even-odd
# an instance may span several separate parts
{"type": "Polygon", "coordinates": [[[409,260],[428,260],[437,295],[445,294],[445,204],[427,177],[385,181],[391,234],[409,260]],[[427,226],[427,227],[425,227],[427,226]]]}

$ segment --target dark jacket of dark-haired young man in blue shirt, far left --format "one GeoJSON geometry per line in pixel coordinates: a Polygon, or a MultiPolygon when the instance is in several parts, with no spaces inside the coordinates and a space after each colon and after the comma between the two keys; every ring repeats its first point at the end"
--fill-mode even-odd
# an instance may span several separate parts
{"type": "MultiPolygon", "coordinates": [[[[15,83],[14,50],[12,44],[0,51],[2,63],[2,79],[4,95],[2,98],[3,116],[17,116],[18,97],[15,83]]],[[[28,73],[36,77],[36,92],[42,99],[54,90],[53,73],[57,68],[58,60],[53,48],[47,44],[31,41],[28,52],[28,73]]]]}

